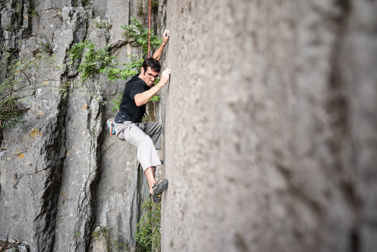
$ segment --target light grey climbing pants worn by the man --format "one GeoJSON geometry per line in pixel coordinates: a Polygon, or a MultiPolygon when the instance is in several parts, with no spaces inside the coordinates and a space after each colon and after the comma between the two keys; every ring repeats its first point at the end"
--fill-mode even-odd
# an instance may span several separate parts
{"type": "Polygon", "coordinates": [[[137,149],[137,157],[143,171],[151,166],[161,166],[156,150],[161,149],[162,124],[158,121],[115,123],[115,135],[137,149]],[[138,124],[138,125],[137,125],[138,124]]]}

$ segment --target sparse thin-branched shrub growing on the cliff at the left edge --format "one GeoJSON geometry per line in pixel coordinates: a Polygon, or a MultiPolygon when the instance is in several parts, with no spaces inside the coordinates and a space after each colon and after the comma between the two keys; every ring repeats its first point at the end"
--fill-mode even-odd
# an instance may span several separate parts
{"type": "MultiPolygon", "coordinates": [[[[55,71],[67,69],[55,62],[55,54],[42,55],[38,48],[34,50],[34,58],[20,59],[12,56],[11,48],[0,48],[0,72],[5,77],[0,83],[0,139],[3,130],[26,123],[25,113],[29,109],[21,109],[19,101],[34,97],[42,89],[43,92],[59,92],[62,98],[73,88],[87,92],[82,82],[67,80],[56,74],[55,71]]],[[[98,100],[96,94],[91,95],[98,100]]]]}

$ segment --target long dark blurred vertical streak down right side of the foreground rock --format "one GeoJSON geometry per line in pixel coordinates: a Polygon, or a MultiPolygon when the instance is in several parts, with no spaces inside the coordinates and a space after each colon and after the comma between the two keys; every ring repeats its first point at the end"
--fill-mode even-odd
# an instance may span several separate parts
{"type": "Polygon", "coordinates": [[[337,0],[336,5],[340,9],[340,15],[334,18],[336,32],[330,55],[326,111],[328,112],[329,127],[332,134],[329,136],[327,143],[333,156],[331,169],[337,174],[333,181],[340,187],[345,201],[354,214],[354,219],[351,222],[354,223],[355,228],[349,236],[352,251],[358,251],[357,226],[359,225],[361,200],[356,194],[355,168],[350,166],[353,163],[351,160],[351,117],[349,108],[351,90],[343,78],[345,71],[342,65],[342,56],[347,53],[344,51],[343,45],[349,30],[352,3],[351,0],[337,0]]]}

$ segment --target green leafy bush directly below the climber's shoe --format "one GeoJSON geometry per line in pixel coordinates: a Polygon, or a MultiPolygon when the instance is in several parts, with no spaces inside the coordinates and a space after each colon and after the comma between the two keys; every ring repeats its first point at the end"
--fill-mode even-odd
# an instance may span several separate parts
{"type": "Polygon", "coordinates": [[[147,209],[147,213],[136,223],[135,232],[136,251],[159,251],[161,246],[161,233],[159,232],[161,221],[161,202],[154,204],[152,198],[146,199],[141,210],[147,209]],[[153,209],[154,205],[154,209],[153,209]]]}

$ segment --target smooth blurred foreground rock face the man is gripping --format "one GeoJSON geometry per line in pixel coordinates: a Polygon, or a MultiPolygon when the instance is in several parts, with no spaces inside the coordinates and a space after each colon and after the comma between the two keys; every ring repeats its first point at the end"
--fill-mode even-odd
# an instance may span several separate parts
{"type": "Polygon", "coordinates": [[[167,4],[162,251],[374,251],[376,2],[167,4]]]}

